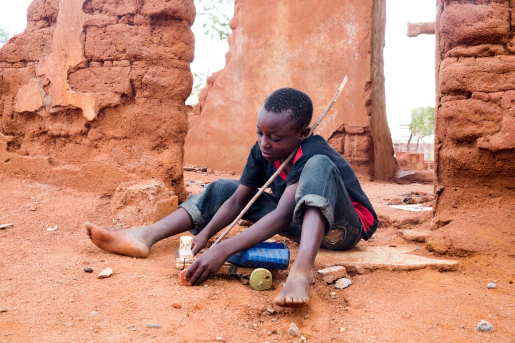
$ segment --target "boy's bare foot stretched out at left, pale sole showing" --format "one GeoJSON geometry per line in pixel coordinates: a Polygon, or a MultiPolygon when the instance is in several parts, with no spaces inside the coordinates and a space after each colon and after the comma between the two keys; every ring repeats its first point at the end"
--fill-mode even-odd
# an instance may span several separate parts
{"type": "Polygon", "coordinates": [[[152,243],[148,241],[145,230],[110,229],[89,222],[84,223],[88,237],[102,250],[132,257],[145,258],[152,243]]]}

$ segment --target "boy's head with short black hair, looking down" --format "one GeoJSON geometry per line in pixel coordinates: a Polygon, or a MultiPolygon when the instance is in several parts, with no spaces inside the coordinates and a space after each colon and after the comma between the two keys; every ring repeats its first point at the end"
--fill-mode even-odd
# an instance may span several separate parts
{"type": "Polygon", "coordinates": [[[270,94],[258,113],[256,133],[263,157],[285,159],[310,132],[313,103],[294,88],[280,88],[270,94]]]}

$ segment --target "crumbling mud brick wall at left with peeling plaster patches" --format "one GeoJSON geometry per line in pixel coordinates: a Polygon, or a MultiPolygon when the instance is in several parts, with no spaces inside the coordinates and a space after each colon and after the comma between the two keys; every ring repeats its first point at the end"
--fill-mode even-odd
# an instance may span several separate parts
{"type": "Polygon", "coordinates": [[[0,49],[0,173],[185,197],[193,0],[35,0],[0,49]]]}

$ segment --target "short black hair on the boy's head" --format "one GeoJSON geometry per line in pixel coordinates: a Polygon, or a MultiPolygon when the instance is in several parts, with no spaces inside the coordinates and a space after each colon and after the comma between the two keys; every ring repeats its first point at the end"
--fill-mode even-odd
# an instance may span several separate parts
{"type": "Polygon", "coordinates": [[[313,117],[313,102],[310,97],[295,88],[284,87],[273,91],[263,102],[263,107],[272,113],[288,113],[300,130],[307,127],[313,117]]]}

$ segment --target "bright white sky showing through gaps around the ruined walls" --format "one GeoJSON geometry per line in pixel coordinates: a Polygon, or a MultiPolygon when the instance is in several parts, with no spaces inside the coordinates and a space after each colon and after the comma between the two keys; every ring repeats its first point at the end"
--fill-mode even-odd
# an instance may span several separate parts
{"type": "MultiPolygon", "coordinates": [[[[23,32],[31,0],[0,1],[0,26],[13,34],[23,32]]],[[[198,0],[195,4],[198,6],[198,0]]],[[[400,124],[409,123],[411,109],[435,105],[435,36],[408,38],[406,23],[434,21],[436,4],[435,0],[387,0],[386,6],[386,112],[392,138],[401,139],[409,136],[400,124]]],[[[228,12],[232,16],[232,8],[228,12]]],[[[208,70],[213,73],[224,67],[228,46],[216,40],[211,43],[201,24],[197,19],[192,27],[196,47],[191,69],[202,74],[208,70]]],[[[191,102],[195,101],[189,99],[188,103],[191,102]]]]}

